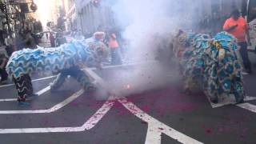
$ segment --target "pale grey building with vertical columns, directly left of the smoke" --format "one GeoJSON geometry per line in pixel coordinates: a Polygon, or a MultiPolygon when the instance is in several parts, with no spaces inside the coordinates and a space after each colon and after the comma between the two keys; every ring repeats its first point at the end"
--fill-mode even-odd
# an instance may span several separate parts
{"type": "Polygon", "coordinates": [[[96,6],[99,0],[65,0],[66,30],[79,30],[83,34],[114,25],[110,6],[96,6]]]}

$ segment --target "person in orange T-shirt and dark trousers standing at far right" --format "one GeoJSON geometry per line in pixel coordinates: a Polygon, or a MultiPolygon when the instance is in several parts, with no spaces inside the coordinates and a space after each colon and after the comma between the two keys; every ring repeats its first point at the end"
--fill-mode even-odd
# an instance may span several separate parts
{"type": "Polygon", "coordinates": [[[240,46],[240,54],[242,57],[243,65],[246,73],[251,73],[251,63],[248,57],[247,46],[250,43],[249,26],[244,18],[241,17],[239,10],[234,10],[231,14],[231,18],[228,18],[223,26],[223,30],[234,35],[238,39],[238,45],[240,46]]]}

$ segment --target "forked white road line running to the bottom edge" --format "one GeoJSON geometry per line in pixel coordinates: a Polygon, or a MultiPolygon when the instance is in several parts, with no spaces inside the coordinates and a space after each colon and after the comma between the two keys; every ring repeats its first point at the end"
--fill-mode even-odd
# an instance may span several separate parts
{"type": "Polygon", "coordinates": [[[135,106],[132,102],[128,102],[126,98],[119,99],[118,102],[121,102],[122,106],[125,106],[126,109],[129,110],[136,117],[142,119],[142,121],[147,122],[149,124],[150,130],[153,131],[151,132],[150,130],[148,130],[148,134],[146,134],[146,136],[149,138],[146,138],[146,144],[153,142],[158,142],[154,144],[160,144],[161,139],[159,140],[159,133],[166,134],[170,138],[174,138],[175,140],[181,143],[202,144],[202,142],[198,142],[194,138],[190,138],[189,136],[182,134],[177,130],[174,130],[170,126],[167,126],[162,122],[159,122],[157,119],[151,117],[149,114],[146,114],[144,111],[139,109],[138,106],[135,106]]]}

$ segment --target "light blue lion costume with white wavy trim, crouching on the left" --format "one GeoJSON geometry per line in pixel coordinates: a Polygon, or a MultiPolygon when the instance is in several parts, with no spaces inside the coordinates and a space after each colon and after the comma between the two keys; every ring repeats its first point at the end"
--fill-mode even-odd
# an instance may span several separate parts
{"type": "Polygon", "coordinates": [[[19,105],[26,105],[26,98],[33,95],[30,74],[50,71],[58,74],[51,90],[62,86],[68,75],[75,78],[85,90],[94,87],[90,78],[80,69],[82,64],[94,63],[100,65],[106,57],[106,46],[102,43],[104,33],[96,33],[94,37],[74,40],[57,48],[24,49],[14,52],[7,63],[6,70],[13,78],[18,90],[19,105]]]}

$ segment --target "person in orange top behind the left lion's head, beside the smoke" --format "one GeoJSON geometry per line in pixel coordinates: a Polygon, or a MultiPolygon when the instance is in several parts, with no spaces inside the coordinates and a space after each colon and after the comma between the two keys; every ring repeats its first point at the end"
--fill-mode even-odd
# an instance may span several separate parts
{"type": "Polygon", "coordinates": [[[108,45],[111,51],[111,64],[121,65],[122,60],[120,56],[119,45],[118,45],[117,37],[114,33],[110,33],[108,45]]]}

